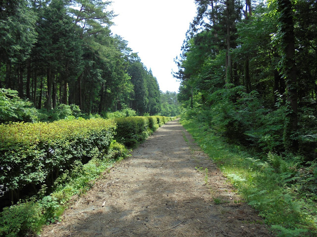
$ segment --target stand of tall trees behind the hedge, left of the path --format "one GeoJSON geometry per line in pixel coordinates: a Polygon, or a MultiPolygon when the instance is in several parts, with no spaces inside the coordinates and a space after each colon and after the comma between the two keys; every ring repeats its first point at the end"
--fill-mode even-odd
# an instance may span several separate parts
{"type": "Polygon", "coordinates": [[[109,4],[1,1],[0,87],[17,90],[38,109],[76,104],[84,113],[104,114],[131,105],[142,115],[159,113],[157,79],[112,35],[109,4]]]}

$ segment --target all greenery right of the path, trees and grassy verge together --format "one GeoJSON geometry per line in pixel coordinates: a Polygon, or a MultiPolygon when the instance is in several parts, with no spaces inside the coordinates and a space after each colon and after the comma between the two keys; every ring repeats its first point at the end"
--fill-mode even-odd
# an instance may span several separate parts
{"type": "Polygon", "coordinates": [[[315,236],[317,2],[195,2],[183,125],[278,236],[315,236]]]}

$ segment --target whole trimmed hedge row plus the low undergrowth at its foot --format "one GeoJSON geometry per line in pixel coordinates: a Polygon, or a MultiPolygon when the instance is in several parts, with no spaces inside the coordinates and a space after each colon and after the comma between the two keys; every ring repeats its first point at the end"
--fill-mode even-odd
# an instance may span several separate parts
{"type": "Polygon", "coordinates": [[[45,223],[58,220],[72,195],[84,192],[111,162],[125,156],[126,149],[113,140],[114,134],[117,141],[135,145],[171,119],[151,116],[0,124],[0,197],[8,197],[12,191],[16,202],[18,190],[30,186],[38,190],[36,197],[3,208],[0,236],[37,233],[45,223]],[[45,196],[50,186],[52,193],[45,196]]]}

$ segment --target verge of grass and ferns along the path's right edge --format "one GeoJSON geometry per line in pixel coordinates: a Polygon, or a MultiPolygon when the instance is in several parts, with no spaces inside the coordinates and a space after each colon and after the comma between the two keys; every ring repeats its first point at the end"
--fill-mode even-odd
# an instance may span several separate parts
{"type": "Polygon", "coordinates": [[[184,127],[277,236],[317,234],[315,162],[304,168],[303,157],[292,154],[254,153],[250,158],[248,148],[226,143],[204,119],[197,119],[204,112],[189,112],[182,115],[184,127]]]}

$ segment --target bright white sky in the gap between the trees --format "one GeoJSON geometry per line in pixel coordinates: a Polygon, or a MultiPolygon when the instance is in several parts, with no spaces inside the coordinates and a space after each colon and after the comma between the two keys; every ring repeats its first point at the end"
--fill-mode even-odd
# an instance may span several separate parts
{"type": "Polygon", "coordinates": [[[177,92],[180,82],[171,72],[178,70],[174,58],[196,16],[194,0],[112,0],[111,8],[118,15],[112,19],[112,33],[128,41],[161,91],[177,92]]]}

